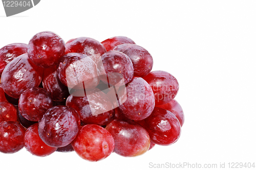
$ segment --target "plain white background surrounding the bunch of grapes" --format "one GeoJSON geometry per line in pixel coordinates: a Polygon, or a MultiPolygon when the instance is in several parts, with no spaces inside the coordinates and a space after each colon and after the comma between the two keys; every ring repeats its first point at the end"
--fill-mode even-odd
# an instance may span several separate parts
{"type": "MultiPolygon", "coordinates": [[[[153,169],[153,164],[256,162],[256,1],[50,1],[6,17],[0,47],[41,31],[63,40],[127,36],[146,48],[153,70],[176,77],[185,114],[179,140],[134,157],[89,162],[76,153],[0,153],[0,169],[153,169]]],[[[256,164],[255,164],[256,165],[256,164]]]]}

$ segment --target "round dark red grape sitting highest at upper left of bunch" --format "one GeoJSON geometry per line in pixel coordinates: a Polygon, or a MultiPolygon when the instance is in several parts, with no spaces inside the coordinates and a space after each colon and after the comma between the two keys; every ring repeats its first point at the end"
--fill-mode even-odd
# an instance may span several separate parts
{"type": "Polygon", "coordinates": [[[40,67],[50,68],[57,65],[63,55],[65,55],[65,42],[53,32],[37,33],[29,41],[28,56],[40,67]]]}

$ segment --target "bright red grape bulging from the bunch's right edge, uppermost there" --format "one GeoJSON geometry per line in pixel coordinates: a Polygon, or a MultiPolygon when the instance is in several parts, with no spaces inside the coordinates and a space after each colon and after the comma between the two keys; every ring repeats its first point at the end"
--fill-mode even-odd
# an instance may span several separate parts
{"type": "Polygon", "coordinates": [[[153,89],[156,105],[169,103],[175,98],[179,90],[179,83],[176,78],[166,71],[152,71],[143,79],[153,89]]]}

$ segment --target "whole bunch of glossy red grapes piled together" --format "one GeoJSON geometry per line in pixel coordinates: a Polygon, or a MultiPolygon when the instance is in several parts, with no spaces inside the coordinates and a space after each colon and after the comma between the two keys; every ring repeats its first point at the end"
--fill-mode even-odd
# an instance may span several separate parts
{"type": "Polygon", "coordinates": [[[179,84],[168,72],[152,67],[151,54],[124,36],[102,42],[79,37],[65,43],[45,31],[28,44],[2,47],[0,152],[25,147],[44,157],[75,151],[83,159],[98,161],[113,152],[134,157],[155,144],[173,144],[184,123],[182,108],[174,100],[179,84]],[[67,73],[70,68],[79,74],[67,73]],[[76,84],[78,79],[87,81],[76,84]],[[123,91],[116,92],[117,103],[108,95],[111,88],[123,91]],[[84,95],[77,95],[79,89],[84,95]]]}

